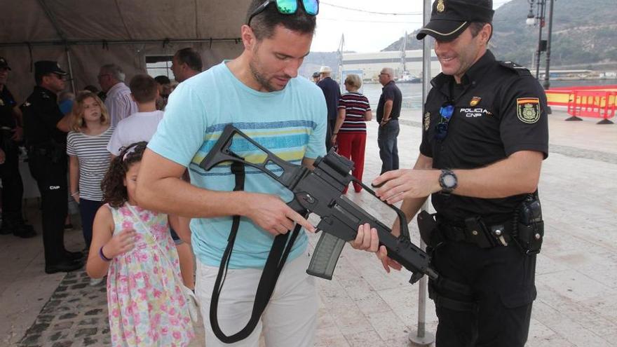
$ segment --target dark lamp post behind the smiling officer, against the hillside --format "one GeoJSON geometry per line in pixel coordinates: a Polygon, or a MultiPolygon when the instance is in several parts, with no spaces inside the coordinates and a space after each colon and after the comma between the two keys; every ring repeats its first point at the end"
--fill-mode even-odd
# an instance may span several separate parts
{"type": "Polygon", "coordinates": [[[546,51],[546,64],[544,73],[544,89],[550,88],[550,36],[552,34],[552,8],[555,0],[527,0],[529,1],[529,13],[525,23],[528,26],[538,25],[538,47],[536,48],[536,79],[540,79],[540,57],[543,51],[546,51]],[[548,38],[542,39],[542,28],[545,25],[546,18],[546,3],[550,1],[548,15],[548,38]],[[534,15],[534,4],[536,4],[536,13],[534,15]]]}

